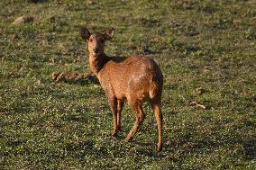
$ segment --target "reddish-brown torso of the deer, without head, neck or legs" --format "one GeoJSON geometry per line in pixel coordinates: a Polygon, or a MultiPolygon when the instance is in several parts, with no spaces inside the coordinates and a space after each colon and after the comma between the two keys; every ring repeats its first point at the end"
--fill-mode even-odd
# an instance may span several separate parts
{"type": "Polygon", "coordinates": [[[152,58],[110,58],[98,77],[106,94],[123,100],[131,95],[138,95],[143,100],[150,94],[152,84],[162,88],[160,67],[152,58]]]}

